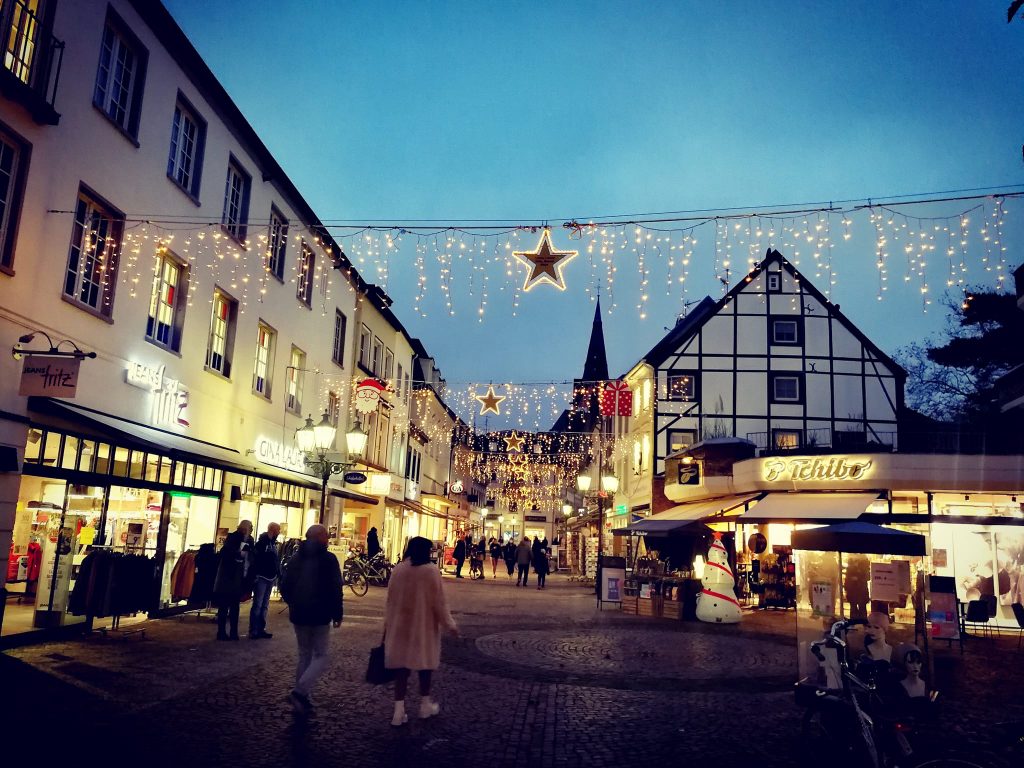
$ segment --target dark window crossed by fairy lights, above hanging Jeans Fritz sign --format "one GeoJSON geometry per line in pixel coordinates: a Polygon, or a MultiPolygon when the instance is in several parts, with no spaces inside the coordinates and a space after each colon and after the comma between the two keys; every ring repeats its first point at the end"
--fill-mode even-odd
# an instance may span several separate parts
{"type": "Polygon", "coordinates": [[[114,311],[123,223],[124,214],[79,190],[63,292],[106,317],[114,311]]]}

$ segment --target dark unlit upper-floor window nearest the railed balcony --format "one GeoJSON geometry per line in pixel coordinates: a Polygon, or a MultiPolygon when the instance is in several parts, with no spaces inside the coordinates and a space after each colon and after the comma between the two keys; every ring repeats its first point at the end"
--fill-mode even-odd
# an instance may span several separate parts
{"type": "Polygon", "coordinates": [[[92,102],[121,130],[138,137],[138,117],[148,53],[121,18],[108,8],[92,102]]]}

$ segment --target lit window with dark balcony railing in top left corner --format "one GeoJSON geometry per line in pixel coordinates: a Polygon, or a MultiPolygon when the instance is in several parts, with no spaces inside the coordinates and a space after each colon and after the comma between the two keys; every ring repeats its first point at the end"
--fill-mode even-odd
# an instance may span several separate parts
{"type": "Polygon", "coordinates": [[[54,109],[65,44],[44,29],[37,15],[38,3],[3,0],[0,31],[3,34],[3,67],[0,90],[19,101],[37,123],[56,125],[54,109]]]}

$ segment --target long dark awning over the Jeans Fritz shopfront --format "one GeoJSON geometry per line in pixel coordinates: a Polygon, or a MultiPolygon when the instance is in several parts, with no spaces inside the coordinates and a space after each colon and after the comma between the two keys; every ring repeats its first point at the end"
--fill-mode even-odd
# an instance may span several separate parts
{"type": "Polygon", "coordinates": [[[172,459],[207,464],[228,472],[284,481],[306,488],[319,487],[319,480],[311,475],[266,464],[256,464],[233,449],[146,426],[85,406],[76,406],[51,397],[30,397],[29,409],[68,420],[73,424],[84,423],[112,440],[169,456],[172,459]]]}

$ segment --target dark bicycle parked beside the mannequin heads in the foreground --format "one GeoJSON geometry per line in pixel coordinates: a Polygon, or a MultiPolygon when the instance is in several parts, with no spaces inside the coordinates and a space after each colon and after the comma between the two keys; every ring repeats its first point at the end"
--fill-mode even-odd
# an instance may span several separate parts
{"type": "MultiPolygon", "coordinates": [[[[906,735],[911,730],[908,723],[886,720],[873,682],[861,680],[850,670],[846,633],[866,624],[863,618],[836,622],[823,639],[811,643],[811,652],[821,664],[828,685],[817,685],[808,678],[796,684],[797,703],[806,708],[801,744],[825,744],[829,752],[840,748],[845,754],[834,757],[841,765],[861,768],[982,768],[958,756],[918,754],[906,735]]],[[[820,754],[807,757],[815,765],[823,758],[820,754]]]]}

